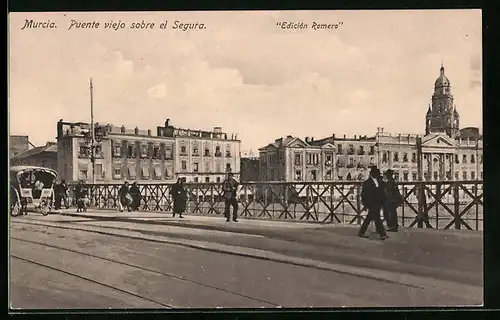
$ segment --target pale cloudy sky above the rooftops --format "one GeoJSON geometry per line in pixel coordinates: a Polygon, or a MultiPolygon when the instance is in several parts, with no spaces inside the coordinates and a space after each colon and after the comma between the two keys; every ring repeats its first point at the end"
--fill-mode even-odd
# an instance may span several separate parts
{"type": "Polygon", "coordinates": [[[10,134],[42,145],[59,119],[90,122],[90,78],[96,122],[221,126],[254,153],[289,134],[422,133],[441,63],[461,127],[481,128],[481,28],[481,10],[11,13],[10,134]],[[130,29],[142,21],[154,28],[130,29]]]}

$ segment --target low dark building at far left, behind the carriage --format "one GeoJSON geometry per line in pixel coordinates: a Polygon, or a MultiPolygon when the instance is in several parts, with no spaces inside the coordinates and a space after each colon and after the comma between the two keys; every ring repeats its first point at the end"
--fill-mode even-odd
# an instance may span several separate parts
{"type": "Polygon", "coordinates": [[[31,148],[10,159],[11,166],[36,166],[57,171],[57,143],[47,142],[41,147],[31,148]]]}

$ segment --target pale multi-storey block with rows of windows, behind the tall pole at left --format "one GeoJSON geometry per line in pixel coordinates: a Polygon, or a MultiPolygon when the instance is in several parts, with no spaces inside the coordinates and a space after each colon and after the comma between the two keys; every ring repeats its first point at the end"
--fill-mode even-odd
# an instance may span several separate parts
{"type": "Polygon", "coordinates": [[[213,131],[175,128],[169,120],[151,130],[95,125],[94,158],[90,125],[60,121],[58,171],[69,181],[96,183],[163,183],[184,178],[187,182],[217,182],[231,170],[239,174],[240,141],[228,138],[220,127],[213,131]]]}

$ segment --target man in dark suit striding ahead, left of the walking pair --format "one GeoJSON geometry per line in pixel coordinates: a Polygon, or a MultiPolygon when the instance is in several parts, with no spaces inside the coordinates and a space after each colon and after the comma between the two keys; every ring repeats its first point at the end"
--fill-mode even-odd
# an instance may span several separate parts
{"type": "Polygon", "coordinates": [[[372,167],[370,170],[370,177],[363,183],[363,189],[361,191],[361,201],[363,202],[363,206],[368,210],[368,214],[359,229],[358,236],[360,237],[367,238],[365,235],[366,229],[370,222],[374,221],[375,228],[380,235],[380,240],[388,238],[382,220],[380,219],[380,210],[386,201],[383,183],[380,177],[380,170],[377,167],[372,167]]]}

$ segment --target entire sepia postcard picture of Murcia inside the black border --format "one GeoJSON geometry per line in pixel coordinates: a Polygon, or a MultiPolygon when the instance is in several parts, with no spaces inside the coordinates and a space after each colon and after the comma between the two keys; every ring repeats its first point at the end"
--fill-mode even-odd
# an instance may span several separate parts
{"type": "Polygon", "coordinates": [[[483,305],[482,11],[15,12],[10,310],[483,305]]]}

